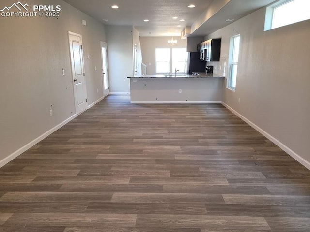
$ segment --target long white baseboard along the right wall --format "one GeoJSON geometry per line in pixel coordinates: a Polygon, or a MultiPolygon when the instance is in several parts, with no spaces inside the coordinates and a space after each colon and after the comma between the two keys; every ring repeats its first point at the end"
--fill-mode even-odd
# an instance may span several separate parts
{"type": "Polygon", "coordinates": [[[278,139],[276,139],[275,137],[273,137],[271,134],[269,134],[268,132],[264,131],[262,128],[260,128],[259,126],[257,126],[256,124],[254,124],[253,122],[251,122],[250,120],[248,120],[248,118],[242,116],[241,114],[239,114],[237,111],[235,111],[233,108],[231,108],[229,105],[227,105],[226,103],[222,102],[222,105],[224,105],[227,109],[229,109],[231,112],[233,112],[236,116],[240,117],[243,121],[245,121],[246,123],[248,123],[248,125],[250,125],[251,127],[253,127],[256,131],[260,132],[261,134],[263,134],[263,136],[265,136],[266,138],[268,138],[270,141],[272,141],[274,144],[276,144],[277,146],[279,146],[283,151],[285,151],[287,154],[289,154],[291,157],[293,157],[295,160],[297,160],[299,163],[301,163],[302,165],[304,165],[306,168],[308,168],[310,170],[310,162],[305,160],[304,158],[302,158],[301,156],[299,156],[296,152],[294,152],[292,149],[290,149],[288,146],[282,144],[278,139]]]}

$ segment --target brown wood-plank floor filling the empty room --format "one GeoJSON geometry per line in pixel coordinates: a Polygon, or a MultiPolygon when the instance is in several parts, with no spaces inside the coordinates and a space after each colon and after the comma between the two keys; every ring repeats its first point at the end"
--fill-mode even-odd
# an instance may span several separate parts
{"type": "Polygon", "coordinates": [[[310,171],[219,104],[108,96],[0,169],[0,232],[309,232],[310,171]]]}

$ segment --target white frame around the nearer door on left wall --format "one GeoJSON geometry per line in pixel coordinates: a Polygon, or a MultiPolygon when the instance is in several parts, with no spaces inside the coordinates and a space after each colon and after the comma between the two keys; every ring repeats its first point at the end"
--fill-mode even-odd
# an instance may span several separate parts
{"type": "Polygon", "coordinates": [[[87,103],[87,87],[86,87],[86,78],[85,78],[85,66],[84,66],[84,53],[83,53],[83,40],[82,40],[82,35],[81,34],[78,34],[78,33],[75,33],[75,32],[72,32],[72,31],[68,31],[68,42],[69,42],[69,56],[70,56],[70,67],[71,67],[71,80],[72,80],[72,87],[73,87],[73,100],[74,100],[74,105],[75,105],[75,109],[76,109],[76,114],[79,115],[81,113],[83,113],[85,110],[87,110],[87,107],[88,107],[88,103],[87,103]],[[84,84],[84,87],[83,87],[83,90],[84,90],[84,93],[85,93],[85,97],[86,97],[86,107],[84,109],[82,109],[81,111],[78,109],[78,106],[77,106],[77,92],[75,90],[75,83],[74,83],[74,72],[73,72],[73,69],[74,67],[72,66],[72,55],[71,54],[71,40],[70,40],[70,36],[77,36],[79,37],[80,41],[81,41],[81,45],[82,45],[82,49],[81,49],[81,54],[82,54],[82,73],[83,74],[83,84],[84,84]]]}

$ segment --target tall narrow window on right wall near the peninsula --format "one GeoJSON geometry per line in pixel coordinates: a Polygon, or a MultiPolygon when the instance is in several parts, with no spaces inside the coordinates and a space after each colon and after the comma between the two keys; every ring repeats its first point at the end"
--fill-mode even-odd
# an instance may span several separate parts
{"type": "Polygon", "coordinates": [[[228,88],[235,90],[237,84],[237,70],[240,48],[240,35],[233,36],[230,46],[230,75],[228,79],[228,88]]]}

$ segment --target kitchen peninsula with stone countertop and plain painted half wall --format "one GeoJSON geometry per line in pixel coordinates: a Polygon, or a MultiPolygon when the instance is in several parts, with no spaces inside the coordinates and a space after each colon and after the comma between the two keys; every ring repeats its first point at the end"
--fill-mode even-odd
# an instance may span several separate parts
{"type": "Polygon", "coordinates": [[[223,76],[141,75],[130,78],[131,103],[221,103],[223,76]]]}

